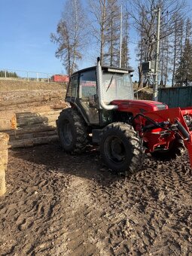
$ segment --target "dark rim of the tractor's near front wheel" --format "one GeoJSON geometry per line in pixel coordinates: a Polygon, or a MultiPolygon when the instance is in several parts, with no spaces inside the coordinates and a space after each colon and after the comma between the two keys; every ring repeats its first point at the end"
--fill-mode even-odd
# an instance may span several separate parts
{"type": "Polygon", "coordinates": [[[126,148],[117,136],[109,136],[104,143],[105,155],[114,163],[122,163],[126,158],[126,148]]]}

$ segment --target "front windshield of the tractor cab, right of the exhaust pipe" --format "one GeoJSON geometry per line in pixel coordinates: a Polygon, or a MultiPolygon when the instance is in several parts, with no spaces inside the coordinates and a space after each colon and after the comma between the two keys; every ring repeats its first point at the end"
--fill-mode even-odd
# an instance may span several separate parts
{"type": "Polygon", "coordinates": [[[103,72],[102,96],[105,103],[110,103],[114,99],[133,99],[130,75],[103,72]]]}

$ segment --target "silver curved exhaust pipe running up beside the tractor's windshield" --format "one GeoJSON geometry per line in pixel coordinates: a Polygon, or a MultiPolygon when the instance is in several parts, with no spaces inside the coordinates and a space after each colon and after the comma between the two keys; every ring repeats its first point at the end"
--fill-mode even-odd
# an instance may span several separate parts
{"type": "Polygon", "coordinates": [[[97,74],[97,85],[98,85],[98,96],[99,96],[99,108],[103,108],[105,110],[113,110],[117,109],[117,105],[106,105],[103,101],[103,88],[102,88],[102,67],[100,64],[100,58],[97,58],[97,66],[96,66],[96,74],[97,74]]]}

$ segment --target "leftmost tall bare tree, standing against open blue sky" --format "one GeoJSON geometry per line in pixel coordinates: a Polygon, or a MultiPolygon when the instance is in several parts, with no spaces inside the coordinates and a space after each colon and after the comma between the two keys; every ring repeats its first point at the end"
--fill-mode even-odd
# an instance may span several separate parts
{"type": "Polygon", "coordinates": [[[51,33],[51,41],[58,45],[56,57],[61,59],[69,75],[78,69],[78,60],[85,46],[85,12],[80,0],[68,0],[56,33],[51,33]]]}

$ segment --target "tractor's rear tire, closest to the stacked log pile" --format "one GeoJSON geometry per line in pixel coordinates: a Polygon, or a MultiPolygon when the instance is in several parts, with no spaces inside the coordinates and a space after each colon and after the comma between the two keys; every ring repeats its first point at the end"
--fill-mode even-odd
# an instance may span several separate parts
{"type": "Polygon", "coordinates": [[[87,125],[74,108],[66,108],[56,120],[59,142],[63,150],[71,154],[84,152],[87,146],[87,125]]]}

